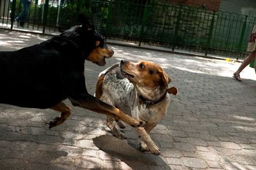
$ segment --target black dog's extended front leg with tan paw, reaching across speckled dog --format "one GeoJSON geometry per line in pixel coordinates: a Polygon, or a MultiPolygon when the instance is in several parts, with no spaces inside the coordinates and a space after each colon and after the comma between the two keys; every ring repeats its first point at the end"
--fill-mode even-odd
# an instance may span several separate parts
{"type": "Polygon", "coordinates": [[[129,115],[126,115],[122,111],[118,110],[118,108],[114,108],[113,106],[100,101],[90,94],[84,93],[79,96],[68,97],[68,99],[70,99],[74,106],[86,108],[104,115],[111,115],[116,119],[126,122],[132,127],[141,127],[145,125],[145,122],[129,117],[129,115]]]}

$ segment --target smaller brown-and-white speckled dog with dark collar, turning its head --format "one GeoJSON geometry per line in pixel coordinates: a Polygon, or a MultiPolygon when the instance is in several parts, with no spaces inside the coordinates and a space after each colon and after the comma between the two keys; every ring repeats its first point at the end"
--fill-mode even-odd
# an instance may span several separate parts
{"type": "MultiPolygon", "coordinates": [[[[178,93],[176,87],[168,88],[170,82],[170,77],[154,62],[121,60],[99,74],[95,96],[131,117],[147,122],[144,127],[135,128],[142,139],[141,150],[159,155],[159,148],[149,132],[166,115],[168,94],[178,93]]],[[[125,139],[120,131],[120,128],[125,128],[122,122],[108,116],[106,124],[113,135],[125,139]]]]}

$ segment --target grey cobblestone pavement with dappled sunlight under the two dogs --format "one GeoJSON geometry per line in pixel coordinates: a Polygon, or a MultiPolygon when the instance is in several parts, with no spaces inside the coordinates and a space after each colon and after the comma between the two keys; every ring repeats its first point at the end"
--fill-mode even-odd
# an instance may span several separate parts
{"type": "MultiPolygon", "coordinates": [[[[0,50],[47,38],[0,30],[0,50]]],[[[127,139],[113,137],[104,115],[82,108],[73,106],[65,124],[48,129],[44,122],[59,113],[0,104],[0,169],[256,169],[254,69],[246,67],[239,82],[232,79],[237,62],[111,46],[115,54],[105,67],[85,64],[91,94],[100,71],[120,59],[157,62],[179,88],[151,132],[161,155],[140,152],[131,127],[127,139]]]]}

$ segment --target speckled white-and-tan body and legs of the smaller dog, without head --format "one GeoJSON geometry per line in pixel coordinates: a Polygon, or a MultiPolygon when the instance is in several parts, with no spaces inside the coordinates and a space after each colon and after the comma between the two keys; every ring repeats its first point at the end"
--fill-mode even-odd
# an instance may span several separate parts
{"type": "MultiPolygon", "coordinates": [[[[166,94],[163,101],[147,106],[141,103],[139,99],[140,88],[138,85],[130,83],[127,78],[124,78],[120,72],[119,63],[114,64],[108,69],[102,71],[100,76],[104,76],[102,81],[102,94],[100,99],[124,113],[138,120],[147,122],[144,127],[135,128],[141,137],[141,150],[148,150],[155,155],[158,155],[159,148],[154,144],[149,136],[149,132],[157,125],[157,123],[166,115],[168,111],[170,96],[166,94]]],[[[145,90],[145,89],[144,89],[145,90]]],[[[148,94],[153,96],[163,96],[165,90],[161,87],[148,89],[148,94]]],[[[143,96],[147,97],[147,96],[143,96]]],[[[116,122],[112,117],[107,118],[109,129],[118,138],[125,139],[124,133],[120,131],[120,127],[124,128],[123,124],[116,122]]]]}

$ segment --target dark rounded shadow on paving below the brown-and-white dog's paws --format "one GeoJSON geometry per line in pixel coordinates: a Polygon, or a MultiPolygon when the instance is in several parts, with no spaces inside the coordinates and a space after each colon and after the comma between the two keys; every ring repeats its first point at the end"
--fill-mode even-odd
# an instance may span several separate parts
{"type": "Polygon", "coordinates": [[[140,152],[133,148],[126,139],[118,139],[111,135],[101,135],[93,138],[93,143],[110,157],[120,159],[132,169],[170,169],[168,164],[159,155],[140,152]]]}

